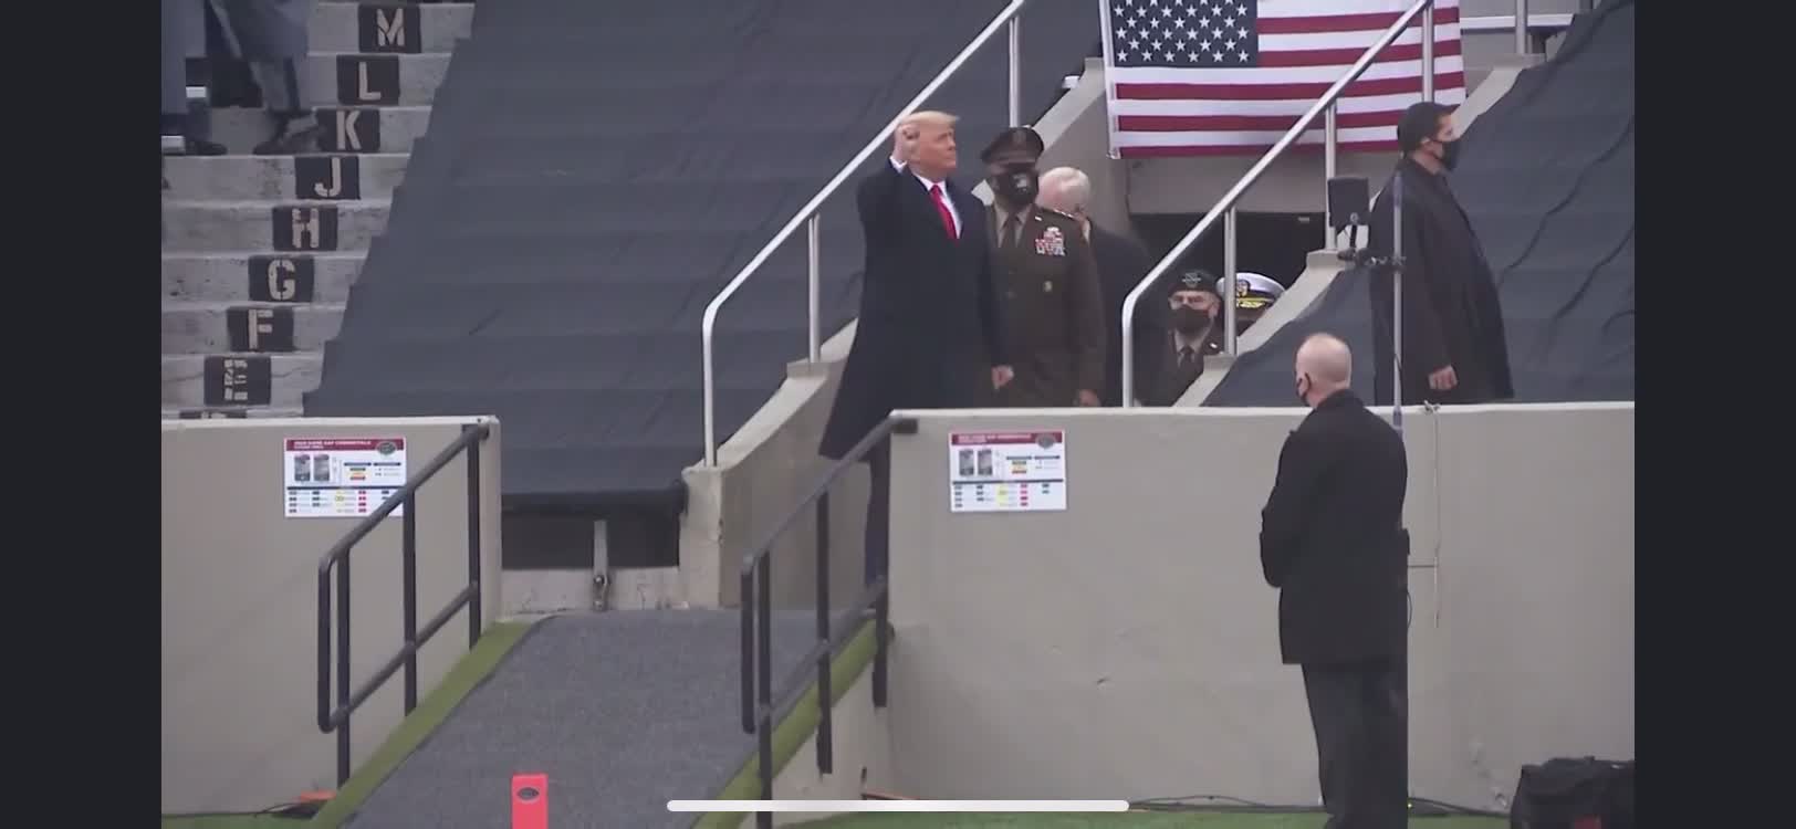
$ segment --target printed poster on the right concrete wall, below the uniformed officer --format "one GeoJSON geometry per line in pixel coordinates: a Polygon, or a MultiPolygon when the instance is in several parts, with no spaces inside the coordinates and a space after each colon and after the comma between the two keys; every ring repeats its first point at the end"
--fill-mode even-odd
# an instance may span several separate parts
{"type": "Polygon", "coordinates": [[[950,432],[948,511],[1067,508],[1067,432],[950,432]]]}

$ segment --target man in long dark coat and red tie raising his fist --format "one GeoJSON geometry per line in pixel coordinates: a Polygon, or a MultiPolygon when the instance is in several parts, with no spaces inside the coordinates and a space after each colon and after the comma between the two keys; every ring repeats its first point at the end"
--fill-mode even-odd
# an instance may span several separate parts
{"type": "MultiPolygon", "coordinates": [[[[860,181],[866,235],[860,321],[819,452],[842,459],[893,409],[991,406],[1013,375],[1004,355],[986,206],[948,181],[954,117],[923,111],[898,126],[893,158],[860,181]]],[[[885,572],[889,452],[867,456],[866,580],[885,572]]]]}

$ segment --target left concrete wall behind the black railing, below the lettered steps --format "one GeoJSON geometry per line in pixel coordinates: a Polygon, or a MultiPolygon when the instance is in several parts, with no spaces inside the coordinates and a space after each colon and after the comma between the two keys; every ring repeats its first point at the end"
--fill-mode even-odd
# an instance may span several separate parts
{"type": "MultiPolygon", "coordinates": [[[[336,734],[316,725],[318,562],[359,519],[282,515],[282,440],[401,436],[415,476],[469,422],[494,427],[480,452],[481,603],[490,623],[501,606],[496,420],[162,422],[165,815],[257,811],[336,788],[336,734]]],[[[354,682],[366,680],[402,644],[399,544],[395,517],[350,554],[354,682]]],[[[422,624],[467,583],[465,456],[418,492],[417,553],[422,624]]],[[[418,696],[465,651],[467,610],[422,650],[418,696]]],[[[402,720],[402,687],[401,671],[356,712],[356,766],[402,720]]]]}

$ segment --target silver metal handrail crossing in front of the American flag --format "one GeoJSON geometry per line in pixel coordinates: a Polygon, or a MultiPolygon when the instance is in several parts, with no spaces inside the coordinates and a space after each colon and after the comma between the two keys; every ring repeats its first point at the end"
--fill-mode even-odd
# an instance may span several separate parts
{"type": "MultiPolygon", "coordinates": [[[[1525,7],[1523,4],[1525,0],[1518,0],[1516,5],[1525,7]]],[[[1336,145],[1334,102],[1342,97],[1342,93],[1347,92],[1347,86],[1351,83],[1354,83],[1360,75],[1365,74],[1367,68],[1372,66],[1372,63],[1385,48],[1388,48],[1392,43],[1397,41],[1397,38],[1403,36],[1403,32],[1415,22],[1415,16],[1421,14],[1424,9],[1428,9],[1430,13],[1422,14],[1422,97],[1426,100],[1433,100],[1435,97],[1435,16],[1431,11],[1433,5],[1435,0],[1415,0],[1413,4],[1410,4],[1408,11],[1404,11],[1397,18],[1397,22],[1390,25],[1390,29],[1385,29],[1385,34],[1381,34],[1378,41],[1374,41],[1370,47],[1365,48],[1360,59],[1347,68],[1347,72],[1340,77],[1340,81],[1334,81],[1334,84],[1329,86],[1329,90],[1324,92],[1322,97],[1309,106],[1309,111],[1306,111],[1300,118],[1297,118],[1297,124],[1293,124],[1291,129],[1288,129],[1279,138],[1279,142],[1273,144],[1272,149],[1268,149],[1266,154],[1263,154],[1259,161],[1255,161],[1254,167],[1250,167],[1246,174],[1243,174],[1241,179],[1228,188],[1228,192],[1223,194],[1223,197],[1216,203],[1216,206],[1212,206],[1203,215],[1203,221],[1193,226],[1185,233],[1185,237],[1180,239],[1178,244],[1175,244],[1173,249],[1167,251],[1166,257],[1162,257],[1160,262],[1155,264],[1153,269],[1149,269],[1148,275],[1142,276],[1133,289],[1130,289],[1128,296],[1122,298],[1122,343],[1135,341],[1135,305],[1140,303],[1140,294],[1148,292],[1149,285],[1166,276],[1166,271],[1169,271],[1173,264],[1178,262],[1185,255],[1185,251],[1189,251],[1191,246],[1203,237],[1203,233],[1207,233],[1212,226],[1216,226],[1218,221],[1225,221],[1227,231],[1223,239],[1223,280],[1227,282],[1227,287],[1223,289],[1223,352],[1227,352],[1228,355],[1236,353],[1236,262],[1234,262],[1236,203],[1241,201],[1241,196],[1250,187],[1254,187],[1255,181],[1259,181],[1259,178],[1266,172],[1266,169],[1272,167],[1272,163],[1277,161],[1279,156],[1284,154],[1284,151],[1291,149],[1291,145],[1297,144],[1297,140],[1306,131],[1309,131],[1309,126],[1316,120],[1316,117],[1324,115],[1324,111],[1327,111],[1327,122],[1324,124],[1324,167],[1327,176],[1334,176],[1334,145],[1336,145]]],[[[1527,20],[1525,13],[1523,20],[1527,20]]],[[[1334,246],[1333,224],[1327,230],[1331,239],[1329,248],[1333,248],[1334,246]]],[[[1122,406],[1124,407],[1135,406],[1133,348],[1122,348],[1122,406]]]]}

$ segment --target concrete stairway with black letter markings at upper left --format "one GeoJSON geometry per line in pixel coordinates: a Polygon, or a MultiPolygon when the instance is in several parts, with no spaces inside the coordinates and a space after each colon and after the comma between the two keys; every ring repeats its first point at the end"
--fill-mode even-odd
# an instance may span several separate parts
{"type": "Polygon", "coordinates": [[[320,153],[251,156],[271,122],[217,109],[226,156],[163,178],[163,418],[300,416],[474,4],[323,0],[305,65],[320,153]]]}

